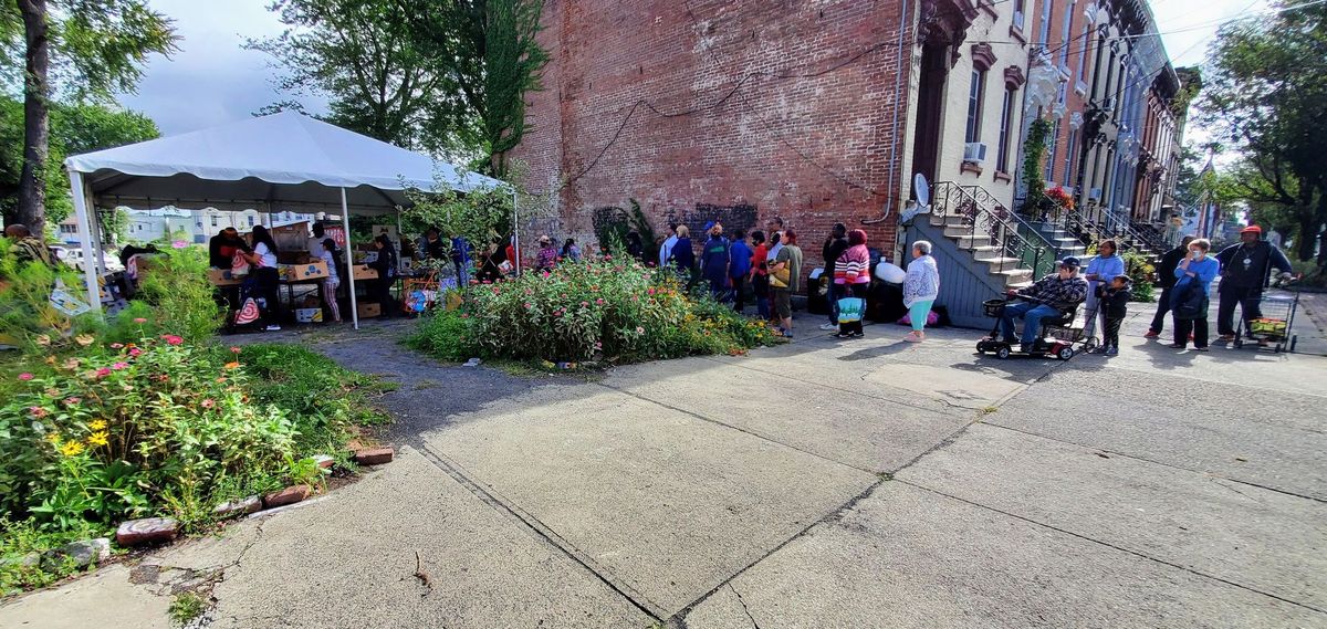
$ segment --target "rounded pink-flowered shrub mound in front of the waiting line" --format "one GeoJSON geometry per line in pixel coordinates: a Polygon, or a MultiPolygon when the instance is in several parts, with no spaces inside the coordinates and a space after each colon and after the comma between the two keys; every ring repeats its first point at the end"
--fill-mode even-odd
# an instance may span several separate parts
{"type": "Polygon", "coordinates": [[[447,360],[545,361],[641,361],[774,342],[762,322],[689,297],[673,273],[625,257],[561,264],[467,292],[463,312],[433,314],[411,342],[447,360]]]}

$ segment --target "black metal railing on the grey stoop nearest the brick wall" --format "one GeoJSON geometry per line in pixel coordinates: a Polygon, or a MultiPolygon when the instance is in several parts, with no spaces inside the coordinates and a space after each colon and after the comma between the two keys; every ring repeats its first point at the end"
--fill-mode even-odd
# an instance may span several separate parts
{"type": "Polygon", "coordinates": [[[995,247],[997,260],[990,265],[997,273],[1031,269],[1032,279],[1036,279],[1055,268],[1055,248],[1050,242],[1035,230],[1028,232],[1036,234],[1035,238],[1022,234],[1014,212],[994,202],[979,186],[938,182],[932,194],[932,215],[941,219],[946,231],[953,227],[966,231],[961,238],[967,238],[974,249],[995,247]],[[981,196],[974,195],[973,188],[979,190],[981,196]]]}

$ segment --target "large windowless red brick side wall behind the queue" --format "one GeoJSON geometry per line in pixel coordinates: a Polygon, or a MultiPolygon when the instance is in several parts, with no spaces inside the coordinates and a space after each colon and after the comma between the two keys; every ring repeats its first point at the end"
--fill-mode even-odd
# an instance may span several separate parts
{"type": "Polygon", "coordinates": [[[670,218],[750,230],[783,216],[808,267],[839,220],[890,251],[909,190],[897,167],[906,110],[893,173],[889,161],[896,77],[913,52],[897,45],[900,11],[855,0],[549,0],[540,40],[552,62],[515,151],[529,165],[527,186],[556,192],[559,236],[589,240],[594,208],[634,198],[660,231],[670,218]],[[886,200],[890,219],[863,226],[886,200]]]}

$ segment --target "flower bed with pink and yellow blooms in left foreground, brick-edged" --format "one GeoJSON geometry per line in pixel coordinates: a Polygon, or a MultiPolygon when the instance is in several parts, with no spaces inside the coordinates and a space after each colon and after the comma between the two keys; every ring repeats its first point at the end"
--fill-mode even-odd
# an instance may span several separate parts
{"type": "Polygon", "coordinates": [[[215,508],[353,471],[345,443],[386,418],[381,385],[299,346],[226,346],[204,252],[154,260],[142,300],[66,317],[56,281],[0,243],[0,596],[82,569],[60,552],[125,520],[212,528],[215,508]],[[336,459],[324,467],[316,455],[336,459]]]}

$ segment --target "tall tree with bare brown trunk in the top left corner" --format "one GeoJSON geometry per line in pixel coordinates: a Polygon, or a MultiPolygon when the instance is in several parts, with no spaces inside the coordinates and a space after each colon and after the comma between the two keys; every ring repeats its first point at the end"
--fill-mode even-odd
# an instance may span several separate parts
{"type": "Polygon", "coordinates": [[[170,20],[147,8],[145,0],[5,3],[0,8],[0,37],[5,76],[23,77],[24,93],[24,151],[15,218],[40,232],[50,180],[49,114],[56,92],[80,101],[133,92],[147,54],[174,52],[176,37],[170,20]]]}

